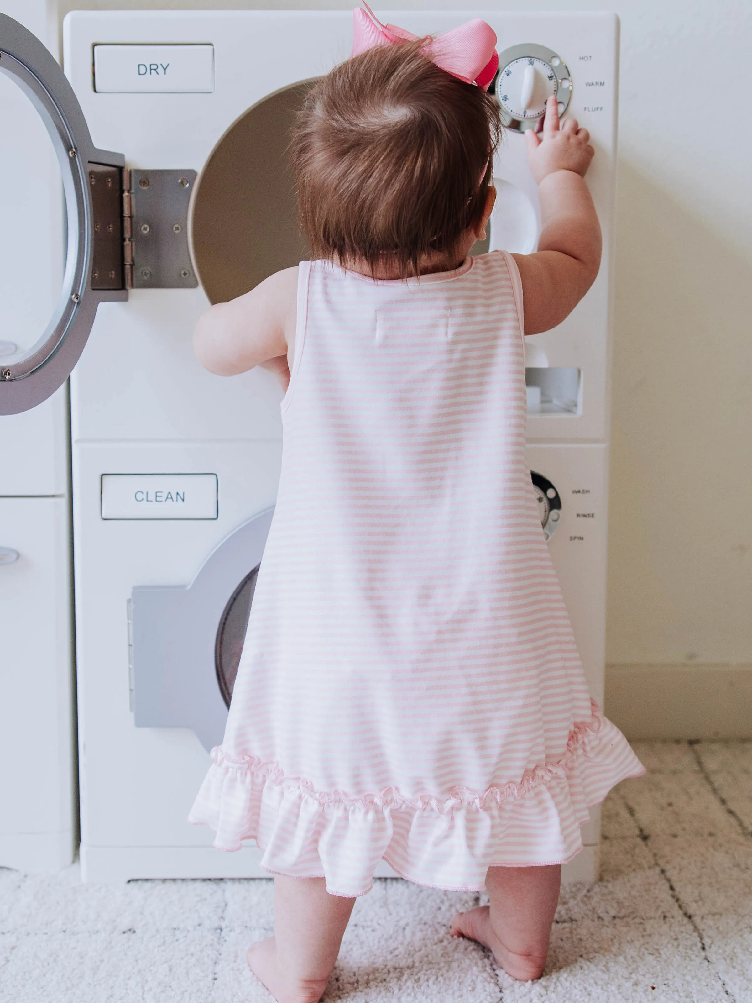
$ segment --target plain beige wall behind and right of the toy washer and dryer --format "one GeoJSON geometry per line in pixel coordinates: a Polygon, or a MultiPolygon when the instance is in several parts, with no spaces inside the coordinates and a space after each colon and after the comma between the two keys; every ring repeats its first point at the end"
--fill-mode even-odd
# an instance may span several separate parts
{"type": "MultiPolygon", "coordinates": [[[[59,3],[213,6],[352,3],[59,3]]],[[[540,7],[622,18],[609,660],[752,663],[752,3],[540,7]]]]}

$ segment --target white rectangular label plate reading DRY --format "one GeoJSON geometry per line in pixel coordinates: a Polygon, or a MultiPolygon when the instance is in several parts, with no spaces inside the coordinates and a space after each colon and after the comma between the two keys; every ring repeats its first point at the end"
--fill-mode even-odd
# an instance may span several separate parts
{"type": "Polygon", "coordinates": [[[206,94],[214,89],[214,45],[94,46],[98,94],[206,94]]]}

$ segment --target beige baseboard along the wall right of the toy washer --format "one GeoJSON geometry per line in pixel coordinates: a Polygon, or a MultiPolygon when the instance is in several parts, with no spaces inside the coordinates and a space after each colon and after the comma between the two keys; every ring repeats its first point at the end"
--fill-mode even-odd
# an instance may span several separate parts
{"type": "Polygon", "coordinates": [[[605,704],[631,739],[752,738],[752,665],[609,665],[605,704]]]}

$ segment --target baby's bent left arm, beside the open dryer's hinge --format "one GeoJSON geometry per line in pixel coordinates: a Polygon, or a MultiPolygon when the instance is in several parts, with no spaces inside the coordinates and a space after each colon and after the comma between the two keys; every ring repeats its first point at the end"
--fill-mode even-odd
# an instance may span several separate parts
{"type": "Polygon", "coordinates": [[[250,293],[211,307],[194,332],[201,364],[218,376],[235,376],[275,360],[268,368],[282,378],[284,356],[292,365],[297,296],[298,269],[286,268],[250,293]]]}

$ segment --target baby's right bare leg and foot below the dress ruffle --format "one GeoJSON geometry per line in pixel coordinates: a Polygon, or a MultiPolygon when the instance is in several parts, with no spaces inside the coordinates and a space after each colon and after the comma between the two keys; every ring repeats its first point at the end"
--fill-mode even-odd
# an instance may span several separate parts
{"type": "Polygon", "coordinates": [[[490,906],[457,913],[452,937],[468,937],[487,947],[513,979],[527,982],[543,974],[561,868],[488,868],[490,906]]]}

